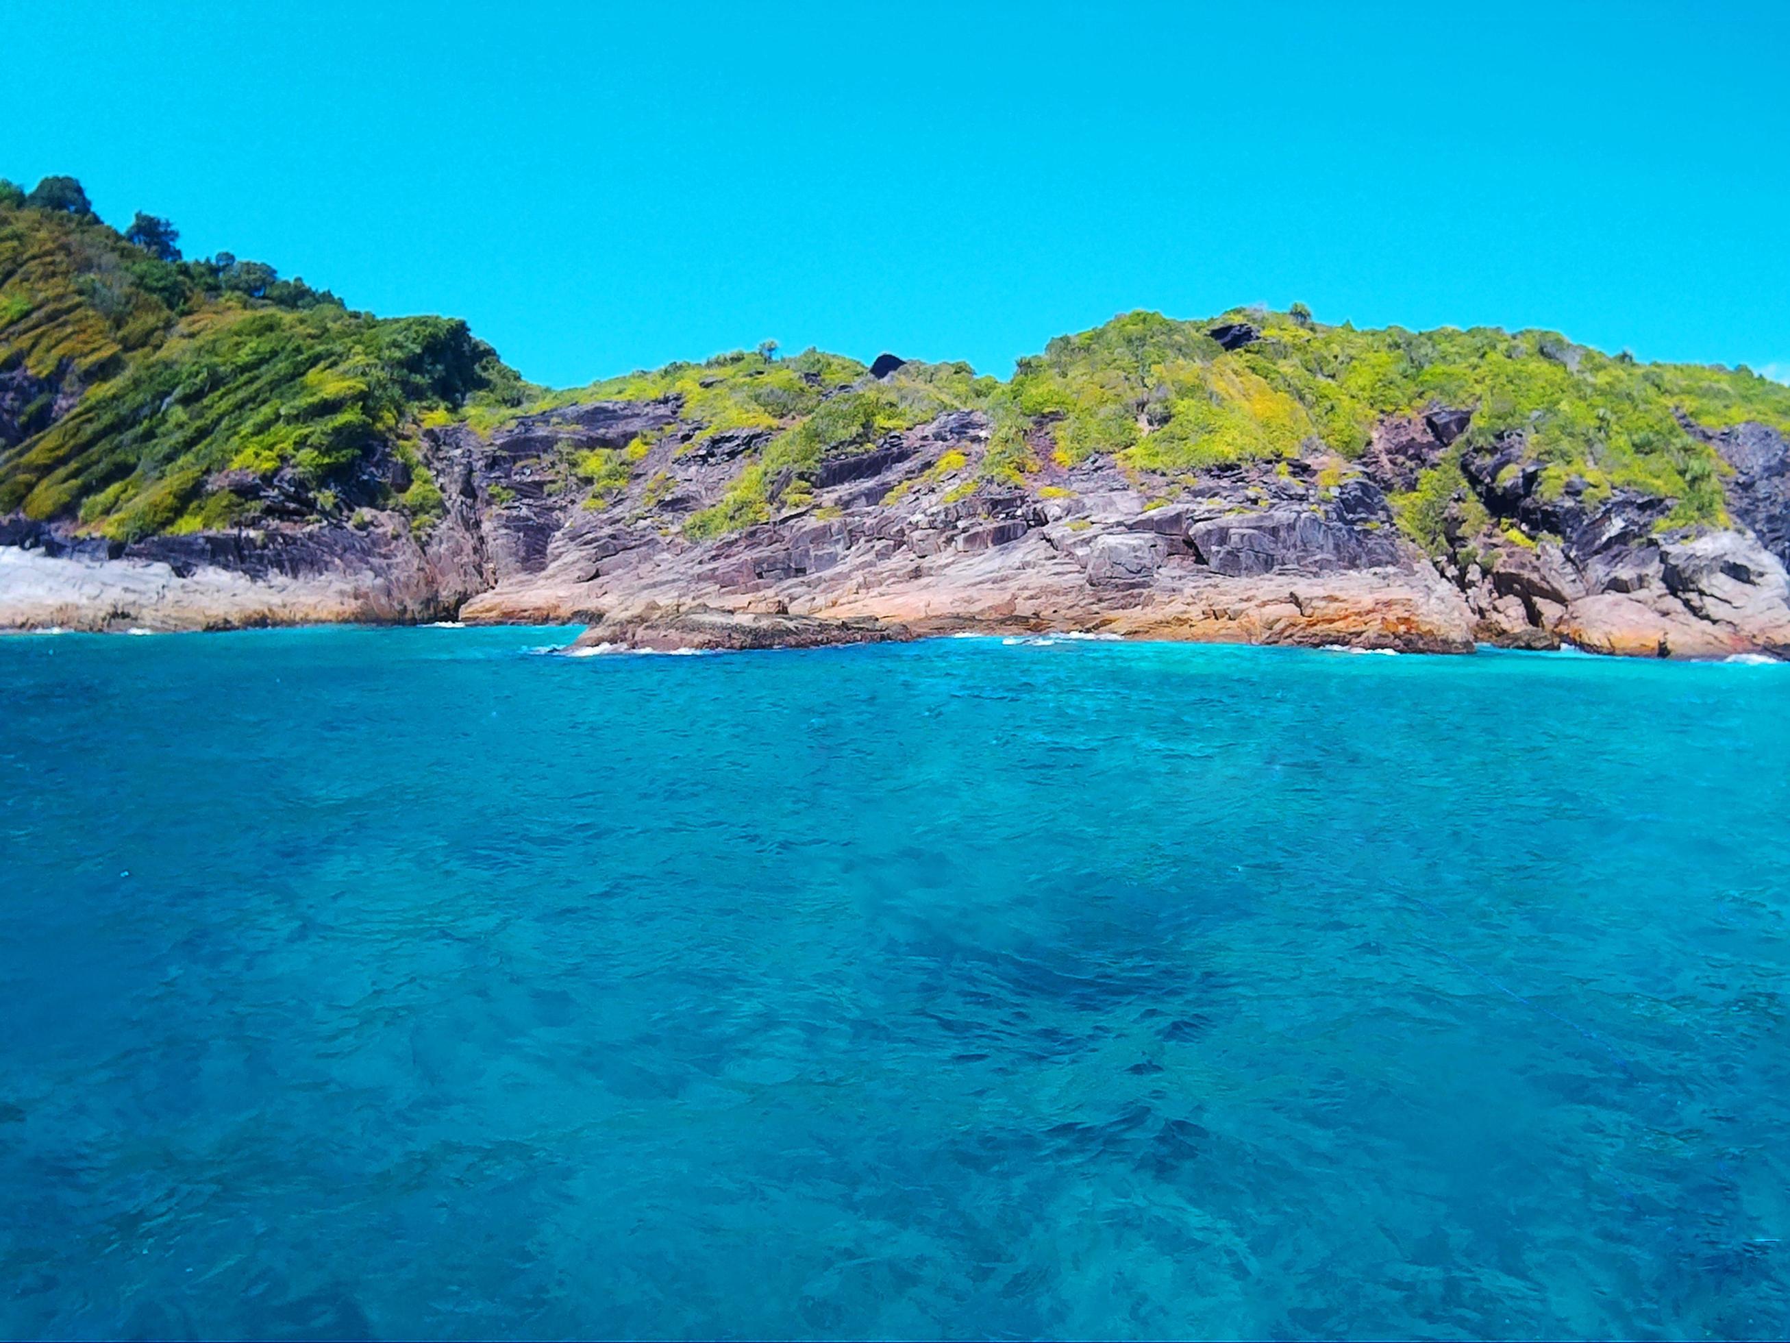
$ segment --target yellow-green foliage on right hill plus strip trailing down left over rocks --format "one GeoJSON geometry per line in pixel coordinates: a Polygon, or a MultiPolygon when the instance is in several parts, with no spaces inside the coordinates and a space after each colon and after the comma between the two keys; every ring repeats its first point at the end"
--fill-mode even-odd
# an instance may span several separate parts
{"type": "MultiPolygon", "coordinates": [[[[730,358],[757,374],[752,356],[730,358]]],[[[1632,489],[1672,500],[1672,525],[1713,525],[1726,519],[1724,467],[1686,421],[1702,430],[1742,421],[1790,430],[1790,389],[1745,369],[1643,365],[1552,331],[1357,331],[1321,326],[1301,304],[1208,322],[1133,312],[1058,337],[1044,355],[1022,358],[1006,383],[965,365],[908,365],[886,383],[859,380],[823,412],[786,417],[727,500],[689,530],[709,535],[800,505],[823,457],[949,406],[976,406],[992,419],[983,480],[1027,485],[1047,464],[1074,467],[1101,455],[1140,480],[1158,478],[1156,494],[1176,480],[1194,483],[1205,467],[1248,460],[1328,458],[1335,475],[1387,415],[1471,410],[1466,439],[1411,496],[1394,500],[1423,543],[1436,539],[1450,501],[1473,509],[1455,464],[1466,448],[1520,442],[1543,466],[1547,496],[1577,478],[1590,500],[1632,489]],[[1226,349],[1212,333],[1235,324],[1251,335],[1226,349]]]]}

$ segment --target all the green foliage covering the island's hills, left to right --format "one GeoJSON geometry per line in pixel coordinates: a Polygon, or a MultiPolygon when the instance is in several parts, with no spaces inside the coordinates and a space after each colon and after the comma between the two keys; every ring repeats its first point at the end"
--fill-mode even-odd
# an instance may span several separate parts
{"type": "MultiPolygon", "coordinates": [[[[1155,496],[1249,460],[1303,457],[1334,480],[1387,415],[1470,410],[1466,439],[1394,500],[1407,532],[1432,544],[1450,507],[1471,507],[1455,460],[1466,448],[1516,442],[1543,467],[1545,494],[1632,489],[1672,500],[1672,525],[1704,525],[1726,518],[1724,467],[1693,428],[1790,430],[1790,389],[1745,369],[1643,365],[1552,331],[1357,331],[1303,304],[1206,322],[1124,313],[1051,340],[1008,381],[965,364],[874,380],[856,360],[779,358],[766,344],[550,392],[462,322],[376,321],[260,261],[183,260],[177,242],[147,213],[113,231],[73,179],[29,193],[0,181],[0,512],[134,537],[252,518],[286,482],[324,516],[347,483],[399,458],[406,469],[390,475],[410,483],[378,503],[426,521],[440,494],[419,426],[458,419],[489,433],[582,401],[668,399],[682,451],[718,435],[745,448],[725,496],[686,521],[707,537],[804,505],[825,460],[945,410],[990,419],[981,455],[938,467],[956,494],[984,482],[1060,491],[1065,471],[1097,457],[1155,496]],[[1226,331],[1239,326],[1242,338],[1226,331]]],[[[646,448],[584,453],[569,471],[601,507],[646,448]]]]}

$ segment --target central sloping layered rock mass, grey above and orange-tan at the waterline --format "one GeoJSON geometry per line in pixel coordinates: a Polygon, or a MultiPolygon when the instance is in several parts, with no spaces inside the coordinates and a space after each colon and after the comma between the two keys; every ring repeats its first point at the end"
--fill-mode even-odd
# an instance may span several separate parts
{"type": "Polygon", "coordinates": [[[990,426],[950,412],[816,475],[813,501],[714,543],[680,512],[711,503],[675,435],[637,476],[675,475],[657,509],[573,518],[546,564],[467,602],[464,620],[600,618],[598,643],[686,637],[686,612],[789,616],[800,641],[959,629],[1103,630],[1137,637],[1348,643],[1468,650],[1471,616],[1428,560],[1400,541],[1369,480],[1319,487],[1303,464],[1214,471],[1185,500],[1146,500],[1110,462],[1056,467],[1038,489],[977,487],[990,426]],[[970,487],[967,491],[967,487],[970,487]],[[831,636],[823,630],[831,630],[831,636]]]}

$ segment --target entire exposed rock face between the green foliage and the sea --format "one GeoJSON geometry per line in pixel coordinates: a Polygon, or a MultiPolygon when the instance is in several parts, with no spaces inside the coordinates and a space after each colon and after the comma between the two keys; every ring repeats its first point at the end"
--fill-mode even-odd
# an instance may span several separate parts
{"type": "Polygon", "coordinates": [[[1665,526],[1658,500],[1573,482],[1548,494],[1520,439],[1470,446],[1470,423],[1432,408],[1384,419],[1351,467],[1316,457],[1174,482],[1099,457],[1065,467],[1042,444],[1042,469],[1019,487],[981,471],[988,417],[956,410],[832,449],[793,507],[693,539],[686,521],[725,496],[766,433],[709,433],[677,398],[573,405],[489,437],[424,432],[444,505],[415,532],[365,507],[125,546],[0,523],[0,546],[14,548],[0,625],[458,618],[582,621],[585,646],[646,648],[976,629],[1790,654],[1790,586],[1763,541],[1781,518],[1781,439],[1718,439],[1735,462],[1733,512],[1756,530],[1688,534],[1665,526]],[[592,455],[605,462],[596,485],[592,455]],[[1430,557],[1400,532],[1391,496],[1455,457],[1482,509],[1473,518],[1489,521],[1470,525],[1462,501],[1430,557]]]}

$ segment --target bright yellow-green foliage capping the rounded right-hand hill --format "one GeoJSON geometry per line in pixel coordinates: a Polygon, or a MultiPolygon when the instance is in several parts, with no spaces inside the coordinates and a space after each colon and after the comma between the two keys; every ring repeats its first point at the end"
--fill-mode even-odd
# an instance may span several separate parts
{"type": "Polygon", "coordinates": [[[1522,433],[1547,467],[1595,491],[1632,487],[1717,521],[1717,458],[1679,415],[1718,430],[1743,419],[1790,428],[1790,389],[1747,371],[1641,365],[1552,331],[1357,331],[1307,313],[1226,313],[1258,338],[1224,351],[1215,324],[1128,313],[1022,360],[1013,396],[1054,415],[1056,455],[1104,451],[1140,471],[1312,451],[1357,457],[1384,415],[1473,412],[1468,442],[1522,433]]]}

